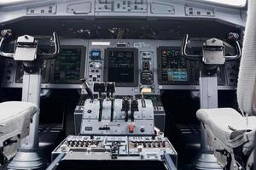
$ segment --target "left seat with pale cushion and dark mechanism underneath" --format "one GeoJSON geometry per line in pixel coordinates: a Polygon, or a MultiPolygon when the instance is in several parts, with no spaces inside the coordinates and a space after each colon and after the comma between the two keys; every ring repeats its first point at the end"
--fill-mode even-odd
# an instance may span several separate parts
{"type": "Polygon", "coordinates": [[[10,101],[0,103],[1,164],[15,156],[20,139],[29,134],[32,116],[38,107],[32,103],[10,101]]]}

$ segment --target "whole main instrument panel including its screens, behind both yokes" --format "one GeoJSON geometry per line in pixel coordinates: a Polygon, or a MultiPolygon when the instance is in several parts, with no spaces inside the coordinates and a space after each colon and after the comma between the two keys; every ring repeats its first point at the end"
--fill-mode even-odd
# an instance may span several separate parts
{"type": "MultiPolygon", "coordinates": [[[[62,39],[61,54],[44,61],[42,88],[82,88],[85,77],[94,82],[116,82],[120,95],[140,94],[141,88],[197,90],[200,63],[187,61],[180,54],[178,40],[62,39]]],[[[191,48],[197,54],[200,48],[191,48]]],[[[233,90],[239,61],[218,68],[218,89],[233,90]]],[[[3,88],[21,88],[22,64],[5,60],[3,88]]]]}

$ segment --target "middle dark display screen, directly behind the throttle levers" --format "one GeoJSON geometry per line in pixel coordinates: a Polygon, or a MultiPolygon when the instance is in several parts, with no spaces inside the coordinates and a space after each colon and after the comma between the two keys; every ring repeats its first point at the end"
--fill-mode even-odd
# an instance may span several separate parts
{"type": "Polygon", "coordinates": [[[108,48],[107,51],[107,81],[118,86],[137,85],[137,49],[108,48]]]}

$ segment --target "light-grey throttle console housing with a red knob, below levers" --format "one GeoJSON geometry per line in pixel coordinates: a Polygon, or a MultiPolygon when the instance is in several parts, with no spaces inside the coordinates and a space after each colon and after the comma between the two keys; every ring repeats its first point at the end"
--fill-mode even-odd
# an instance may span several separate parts
{"type": "MultiPolygon", "coordinates": [[[[122,99],[115,99],[113,106],[113,122],[110,121],[111,102],[104,99],[102,121],[99,122],[100,103],[97,99],[93,102],[85,100],[83,119],[80,133],[84,135],[153,135],[154,134],[154,109],[153,103],[145,99],[146,107],[143,108],[142,100],[138,99],[138,111],[134,112],[134,122],[129,119],[125,122],[125,111],[122,111],[122,99]],[[129,127],[134,126],[131,133],[129,127]],[[108,129],[103,129],[108,127],[108,129]],[[143,129],[143,130],[142,130],[143,129]]],[[[131,112],[129,111],[129,115],[131,112]]]]}

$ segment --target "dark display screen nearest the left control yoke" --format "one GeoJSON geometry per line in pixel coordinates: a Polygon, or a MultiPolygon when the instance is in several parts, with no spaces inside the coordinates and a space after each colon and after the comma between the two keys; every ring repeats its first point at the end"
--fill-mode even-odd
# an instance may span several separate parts
{"type": "Polygon", "coordinates": [[[61,48],[55,59],[54,82],[77,82],[81,72],[81,48],[61,48]]]}

